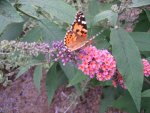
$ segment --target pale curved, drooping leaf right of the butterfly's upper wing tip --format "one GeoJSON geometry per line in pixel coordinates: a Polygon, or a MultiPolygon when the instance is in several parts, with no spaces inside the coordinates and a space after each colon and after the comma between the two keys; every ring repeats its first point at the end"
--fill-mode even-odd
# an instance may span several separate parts
{"type": "Polygon", "coordinates": [[[104,20],[104,19],[108,19],[110,21],[110,23],[115,26],[117,23],[117,19],[118,19],[118,14],[111,11],[111,10],[106,10],[103,11],[99,14],[97,14],[94,18],[94,24],[96,24],[97,22],[104,20]]]}

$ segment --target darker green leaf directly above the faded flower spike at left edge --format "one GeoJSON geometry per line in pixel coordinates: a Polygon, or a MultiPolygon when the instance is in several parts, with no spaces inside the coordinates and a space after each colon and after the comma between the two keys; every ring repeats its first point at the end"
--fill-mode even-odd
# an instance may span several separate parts
{"type": "Polygon", "coordinates": [[[9,24],[3,34],[0,36],[0,40],[15,40],[22,32],[24,22],[9,24]]]}

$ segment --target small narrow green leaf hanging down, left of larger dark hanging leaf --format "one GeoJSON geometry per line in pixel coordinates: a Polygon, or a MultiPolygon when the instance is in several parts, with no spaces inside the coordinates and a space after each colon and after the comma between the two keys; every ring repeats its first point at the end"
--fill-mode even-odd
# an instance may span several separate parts
{"type": "Polygon", "coordinates": [[[42,66],[38,65],[34,70],[33,81],[39,92],[40,92],[41,79],[42,79],[42,66]]]}

